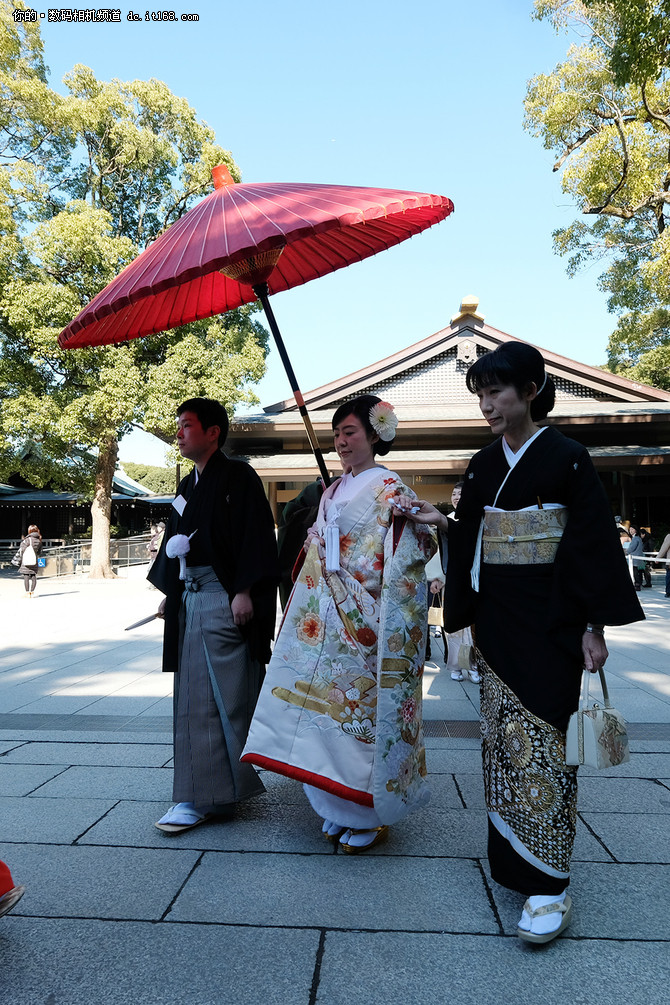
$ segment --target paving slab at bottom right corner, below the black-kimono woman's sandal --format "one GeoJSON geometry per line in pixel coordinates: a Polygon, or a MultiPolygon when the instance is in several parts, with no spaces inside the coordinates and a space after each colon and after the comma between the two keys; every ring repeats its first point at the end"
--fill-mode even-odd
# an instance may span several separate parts
{"type": "Polygon", "coordinates": [[[328,932],[316,1002],[649,1005],[669,978],[668,947],[658,943],[561,939],[536,950],[515,936],[328,932]]]}

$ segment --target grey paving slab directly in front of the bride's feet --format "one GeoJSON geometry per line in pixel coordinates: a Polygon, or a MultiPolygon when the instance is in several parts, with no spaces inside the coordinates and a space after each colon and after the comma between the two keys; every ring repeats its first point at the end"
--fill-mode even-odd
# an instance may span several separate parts
{"type": "Polygon", "coordinates": [[[469,861],[206,852],[167,916],[317,928],[498,931],[469,861]],[[244,896],[230,896],[230,890],[244,896]]]}

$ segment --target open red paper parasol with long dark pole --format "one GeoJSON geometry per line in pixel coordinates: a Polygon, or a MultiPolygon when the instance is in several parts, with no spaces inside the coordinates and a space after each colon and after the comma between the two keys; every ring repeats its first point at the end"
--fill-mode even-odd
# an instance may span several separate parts
{"type": "Polygon", "coordinates": [[[327,484],[325,464],[268,294],[298,286],[421,233],[453,210],[445,196],[341,185],[239,184],[189,210],[63,329],[65,349],[103,346],[224,314],[258,297],[327,484]]]}

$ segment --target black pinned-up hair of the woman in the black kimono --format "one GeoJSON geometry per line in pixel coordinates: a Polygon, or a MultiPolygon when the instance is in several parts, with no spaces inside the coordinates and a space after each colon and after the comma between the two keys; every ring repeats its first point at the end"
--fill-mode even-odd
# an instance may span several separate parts
{"type": "Polygon", "coordinates": [[[530,391],[537,395],[530,402],[530,418],[545,419],[555,402],[555,386],[544,370],[542,354],[527,342],[503,342],[492,353],[484,353],[465,375],[467,389],[472,394],[493,384],[511,384],[521,397],[530,391]]]}

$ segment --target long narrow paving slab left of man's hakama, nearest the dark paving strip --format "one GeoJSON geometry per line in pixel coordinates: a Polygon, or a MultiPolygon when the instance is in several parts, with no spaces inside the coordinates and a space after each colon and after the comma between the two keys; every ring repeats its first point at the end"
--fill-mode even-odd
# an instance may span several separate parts
{"type": "Polygon", "coordinates": [[[172,744],[128,743],[44,743],[36,741],[10,749],[0,758],[0,765],[55,764],[133,766],[161,768],[172,757],[172,744]]]}

